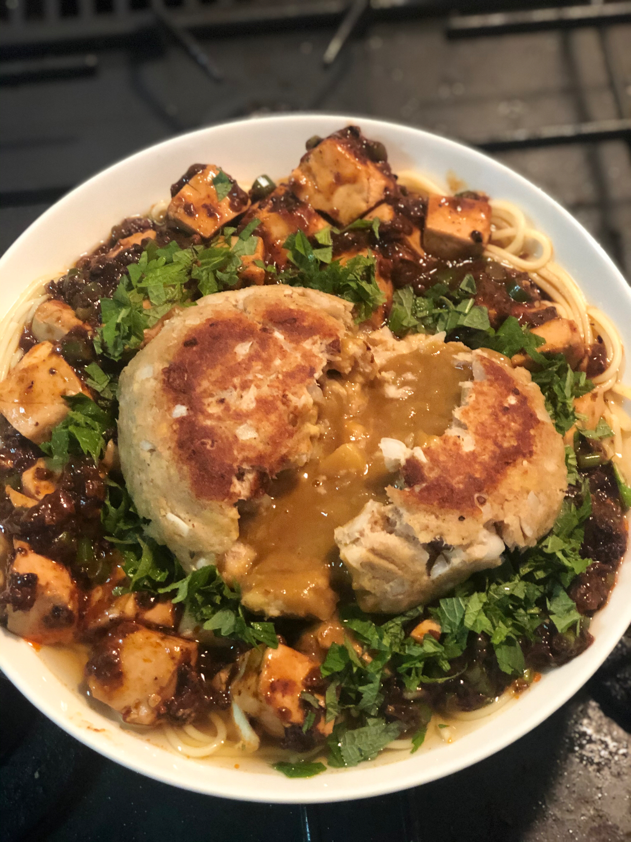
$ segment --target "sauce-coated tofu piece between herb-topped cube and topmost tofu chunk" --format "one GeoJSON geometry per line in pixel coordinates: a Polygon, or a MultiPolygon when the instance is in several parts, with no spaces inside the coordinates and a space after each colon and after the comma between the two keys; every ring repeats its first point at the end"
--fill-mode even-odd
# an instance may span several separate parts
{"type": "MultiPolygon", "coordinates": [[[[284,269],[288,264],[287,249],[284,243],[290,234],[302,231],[307,237],[313,237],[326,228],[326,221],[320,214],[295,196],[287,184],[279,184],[265,199],[252,205],[241,220],[243,229],[253,219],[259,220],[254,233],[262,240],[262,260],[267,266],[284,269]]],[[[260,258],[260,255],[257,255],[260,258]]],[[[256,269],[257,267],[254,267],[256,269]]],[[[247,275],[252,274],[248,267],[247,275]]],[[[258,280],[254,281],[259,283],[258,280]]]]}

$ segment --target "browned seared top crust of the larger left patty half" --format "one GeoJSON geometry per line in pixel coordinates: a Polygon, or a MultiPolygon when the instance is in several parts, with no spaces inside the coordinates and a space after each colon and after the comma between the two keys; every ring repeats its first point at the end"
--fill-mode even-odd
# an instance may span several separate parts
{"type": "Polygon", "coordinates": [[[300,396],[305,383],[321,373],[322,357],[320,349],[300,345],[317,337],[328,355],[340,349],[339,322],[314,308],[277,303],[256,316],[254,321],[243,312],[226,313],[203,322],[186,334],[162,371],[168,413],[178,404],[188,407],[188,414],[173,422],[174,453],[199,498],[235,503],[241,494],[233,481],[244,468],[273,477],[292,462],[296,439],[302,452],[300,396]],[[247,343],[252,345],[239,359],[235,347],[247,343]],[[263,391],[261,381],[271,370],[278,375],[273,388],[263,391]],[[253,390],[255,405],[216,398],[231,390],[241,395],[253,390]],[[249,424],[256,438],[239,439],[235,431],[242,424],[249,424]]]}

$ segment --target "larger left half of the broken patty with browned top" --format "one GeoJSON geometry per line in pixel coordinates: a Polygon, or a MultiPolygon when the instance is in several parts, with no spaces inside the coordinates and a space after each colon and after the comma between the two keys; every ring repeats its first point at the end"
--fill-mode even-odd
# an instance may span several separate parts
{"type": "Polygon", "coordinates": [[[310,456],[316,381],[346,365],[351,310],[284,285],[217,293],[170,319],[123,371],[127,487],[185,566],[226,552],[238,536],[236,501],[310,456]]]}

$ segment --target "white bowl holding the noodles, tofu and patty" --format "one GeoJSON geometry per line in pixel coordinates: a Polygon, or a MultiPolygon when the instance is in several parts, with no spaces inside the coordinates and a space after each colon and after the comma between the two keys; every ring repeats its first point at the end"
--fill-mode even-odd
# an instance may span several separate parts
{"type": "MultiPolygon", "coordinates": [[[[0,317],[37,278],[51,277],[93,248],[125,216],[145,213],[169,195],[169,185],[191,163],[214,162],[236,179],[289,173],[312,135],[347,123],[383,141],[395,172],[415,168],[444,181],[449,171],[470,189],[508,199],[552,237],[556,259],[618,325],[631,347],[631,290],[597,242],[540,189],[500,163],[453,141],[380,120],[328,115],[284,115],[241,120],[175,137],[99,173],[35,221],[0,260],[0,317]]],[[[372,763],[288,780],[261,760],[198,761],[176,756],[94,711],[77,681],[6,630],[0,668],[47,717],[82,743],[144,775],[210,795],[262,802],[326,802],[380,795],[432,781],[503,749],[549,717],[600,666],[631,622],[631,562],[626,559],[606,608],[595,618],[596,640],[579,658],[555,669],[470,733],[451,744],[410,755],[384,752],[372,763]],[[239,768],[235,765],[238,762],[239,768]]],[[[54,660],[54,659],[53,659],[54,660]]]]}

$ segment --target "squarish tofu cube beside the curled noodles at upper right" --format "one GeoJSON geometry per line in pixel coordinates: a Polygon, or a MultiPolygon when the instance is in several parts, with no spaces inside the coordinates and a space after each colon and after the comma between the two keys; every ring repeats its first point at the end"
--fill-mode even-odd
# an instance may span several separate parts
{"type": "Polygon", "coordinates": [[[485,197],[431,195],[423,245],[446,260],[481,254],[490,239],[490,205],[485,197]]]}

